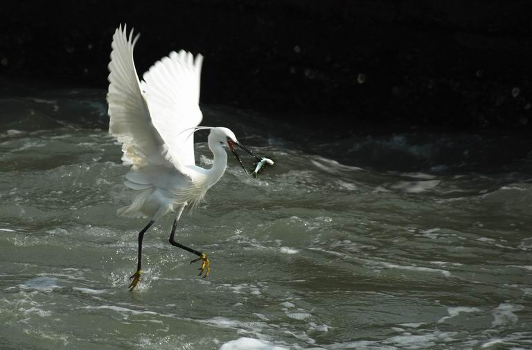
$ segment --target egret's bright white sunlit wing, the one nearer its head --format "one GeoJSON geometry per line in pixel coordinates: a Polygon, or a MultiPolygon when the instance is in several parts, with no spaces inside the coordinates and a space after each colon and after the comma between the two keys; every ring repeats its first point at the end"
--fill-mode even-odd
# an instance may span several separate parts
{"type": "Polygon", "coordinates": [[[143,75],[152,123],[164,141],[166,159],[178,169],[195,165],[193,128],[202,121],[199,80],[203,56],[173,51],[143,75]]]}

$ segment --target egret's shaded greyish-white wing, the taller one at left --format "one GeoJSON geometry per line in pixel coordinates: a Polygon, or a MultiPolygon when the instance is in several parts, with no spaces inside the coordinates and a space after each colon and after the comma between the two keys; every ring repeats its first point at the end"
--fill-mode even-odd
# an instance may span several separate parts
{"type": "Polygon", "coordinates": [[[148,163],[161,165],[165,162],[161,138],[152,125],[133,62],[133,48],[139,35],[133,39],[132,30],[128,38],[125,29],[125,26],[116,29],[111,44],[109,133],[122,143],[125,163],[137,168],[148,163]]]}

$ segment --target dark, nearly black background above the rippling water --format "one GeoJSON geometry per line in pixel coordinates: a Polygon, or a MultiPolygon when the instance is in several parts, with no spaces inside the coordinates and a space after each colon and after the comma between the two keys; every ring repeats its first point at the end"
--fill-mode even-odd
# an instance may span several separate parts
{"type": "Polygon", "coordinates": [[[207,104],[346,132],[532,124],[530,0],[3,1],[0,83],[106,89],[120,23],[141,33],[139,75],[202,53],[207,104]]]}

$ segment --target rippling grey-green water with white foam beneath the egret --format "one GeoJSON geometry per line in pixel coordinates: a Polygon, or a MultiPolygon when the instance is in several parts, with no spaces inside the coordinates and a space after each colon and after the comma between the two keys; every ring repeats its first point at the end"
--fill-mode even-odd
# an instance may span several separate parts
{"type": "MultiPolygon", "coordinates": [[[[209,278],[168,244],[166,217],[130,293],[145,222],[116,217],[126,168],[103,95],[0,100],[1,349],[532,347],[529,140],[337,138],[205,106],[206,125],[276,165],[256,180],[230,158],[179,221],[209,278]]],[[[209,166],[204,137],[196,146],[209,166]]]]}

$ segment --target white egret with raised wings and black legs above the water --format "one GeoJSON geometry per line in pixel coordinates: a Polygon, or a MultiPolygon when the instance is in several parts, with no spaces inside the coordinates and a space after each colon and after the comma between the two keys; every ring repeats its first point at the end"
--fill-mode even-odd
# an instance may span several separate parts
{"type": "Polygon", "coordinates": [[[170,243],[197,255],[199,258],[190,264],[201,260],[199,275],[209,276],[210,261],[206,255],[175,241],[177,221],[184,208],[197,206],[224,174],[227,167],[224,145],[231,149],[240,165],[242,161],[235,145],[254,156],[240,145],[233,131],[225,127],[197,127],[202,121],[198,103],[203,56],[193,57],[184,50],[172,52],[157,61],[144,73],[143,81],[139,81],[133,60],[137,39],[139,35],[133,39],[133,30],[127,36],[125,26],[116,29],[107,93],[109,133],[122,144],[123,163],[131,166],[124,184],[134,190],[132,203],[119,209],[118,214],[150,218],[139,232],[139,256],[136,273],[130,277],[130,291],[139,283],[142,273],[144,233],[154,221],[170,212],[175,214],[170,243]],[[208,141],[213,165],[210,169],[195,165],[193,133],[198,129],[211,129],[208,141]]]}

